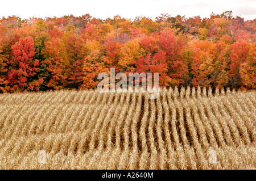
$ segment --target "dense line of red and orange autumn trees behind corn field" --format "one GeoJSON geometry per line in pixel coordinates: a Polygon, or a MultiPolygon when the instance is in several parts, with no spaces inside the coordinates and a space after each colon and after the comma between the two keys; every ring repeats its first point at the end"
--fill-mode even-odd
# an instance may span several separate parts
{"type": "Polygon", "coordinates": [[[159,73],[160,86],[256,88],[256,19],[161,14],[0,19],[0,92],[95,89],[101,72],[159,73]]]}

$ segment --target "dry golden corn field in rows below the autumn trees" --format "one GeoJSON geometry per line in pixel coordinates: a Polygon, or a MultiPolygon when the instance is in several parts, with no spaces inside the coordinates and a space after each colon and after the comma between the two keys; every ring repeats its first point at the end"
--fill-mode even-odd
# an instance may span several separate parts
{"type": "Polygon", "coordinates": [[[256,91],[0,95],[0,169],[256,169],[256,91]]]}

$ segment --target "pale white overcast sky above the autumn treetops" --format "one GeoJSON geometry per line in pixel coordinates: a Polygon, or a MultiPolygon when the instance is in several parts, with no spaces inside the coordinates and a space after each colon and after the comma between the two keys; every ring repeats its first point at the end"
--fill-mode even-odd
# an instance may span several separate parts
{"type": "Polygon", "coordinates": [[[7,0],[1,1],[0,17],[16,15],[23,19],[32,16],[45,18],[89,13],[101,19],[113,18],[117,14],[131,19],[140,15],[155,19],[163,12],[172,16],[185,15],[185,18],[197,15],[208,18],[212,12],[221,14],[227,10],[232,10],[233,16],[238,15],[245,20],[255,19],[256,0],[7,0]]]}

